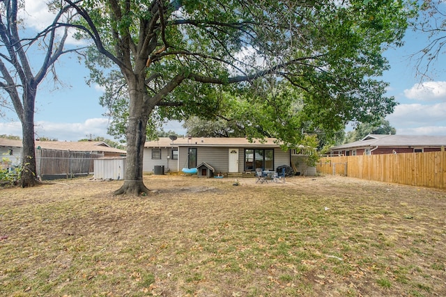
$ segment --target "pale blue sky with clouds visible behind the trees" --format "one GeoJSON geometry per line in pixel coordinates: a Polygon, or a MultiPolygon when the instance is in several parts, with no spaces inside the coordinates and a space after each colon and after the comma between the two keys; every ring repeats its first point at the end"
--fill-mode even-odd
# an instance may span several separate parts
{"type": "MultiPolygon", "coordinates": [[[[29,24],[49,22],[51,16],[46,13],[44,3],[26,2],[29,24]]],[[[391,69],[385,72],[383,80],[390,83],[387,94],[399,102],[387,120],[400,135],[446,135],[445,58],[441,56],[435,61],[429,72],[431,81],[420,84],[421,78],[416,77],[416,61],[410,60],[410,55],[426,45],[426,36],[408,31],[404,40],[403,47],[389,49],[385,53],[391,69]]],[[[86,85],[85,77],[89,72],[77,62],[77,57],[63,56],[56,63],[56,73],[62,85],[55,85],[49,76],[38,89],[36,136],[57,138],[59,141],[78,141],[90,135],[112,139],[107,135],[109,119],[103,116],[105,109],[98,100],[102,90],[86,85]]],[[[178,122],[169,122],[163,129],[185,134],[185,129],[178,122]]],[[[0,118],[0,134],[22,135],[14,112],[0,118]]]]}

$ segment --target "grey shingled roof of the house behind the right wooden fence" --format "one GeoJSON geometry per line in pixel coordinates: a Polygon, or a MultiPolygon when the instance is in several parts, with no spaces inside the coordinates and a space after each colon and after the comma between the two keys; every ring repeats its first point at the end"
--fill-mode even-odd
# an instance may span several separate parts
{"type": "Polygon", "coordinates": [[[369,134],[360,141],[331,147],[332,151],[358,147],[441,147],[446,146],[446,136],[380,135],[369,134]]]}

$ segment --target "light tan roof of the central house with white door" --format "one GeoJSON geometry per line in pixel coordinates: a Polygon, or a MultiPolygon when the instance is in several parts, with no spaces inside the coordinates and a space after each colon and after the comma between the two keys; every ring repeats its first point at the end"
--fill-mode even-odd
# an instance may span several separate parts
{"type": "Polygon", "coordinates": [[[201,146],[201,147],[279,147],[276,138],[265,138],[265,142],[256,139],[249,143],[247,138],[224,138],[224,137],[197,137],[197,138],[177,138],[171,141],[169,137],[160,137],[157,141],[147,141],[144,147],[180,147],[180,146],[201,146]]]}

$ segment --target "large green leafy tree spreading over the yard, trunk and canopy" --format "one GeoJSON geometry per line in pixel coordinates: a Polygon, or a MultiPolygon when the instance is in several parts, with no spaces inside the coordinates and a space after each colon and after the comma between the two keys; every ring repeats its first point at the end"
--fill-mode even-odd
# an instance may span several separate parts
{"type": "Polygon", "coordinates": [[[93,77],[128,92],[125,182],[115,193],[148,192],[142,162],[154,112],[214,112],[221,89],[238,98],[230,108],[252,116],[247,134],[268,132],[291,144],[302,138],[296,129],[289,134],[300,122],[337,131],[395,105],[374,78],[388,67],[383,50],[406,29],[403,1],[65,1],[84,19],[77,28],[108,59],[86,56],[89,65],[97,62],[93,77]],[[125,85],[107,82],[116,75],[100,67],[110,62],[125,85]],[[298,113],[290,111],[295,106],[298,113]]]}

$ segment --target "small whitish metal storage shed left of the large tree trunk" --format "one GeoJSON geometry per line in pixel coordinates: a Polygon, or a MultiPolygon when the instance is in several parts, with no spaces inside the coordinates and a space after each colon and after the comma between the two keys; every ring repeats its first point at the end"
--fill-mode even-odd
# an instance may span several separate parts
{"type": "Polygon", "coordinates": [[[125,156],[103,157],[94,160],[95,179],[123,179],[125,156]]]}

